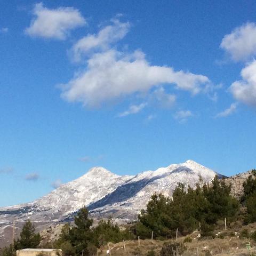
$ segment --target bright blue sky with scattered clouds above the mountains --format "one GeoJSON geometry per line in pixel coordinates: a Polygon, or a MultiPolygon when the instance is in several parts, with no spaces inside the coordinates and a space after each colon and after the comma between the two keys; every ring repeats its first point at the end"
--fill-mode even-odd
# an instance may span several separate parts
{"type": "Polygon", "coordinates": [[[103,166],[256,167],[255,1],[5,1],[0,206],[103,166]]]}

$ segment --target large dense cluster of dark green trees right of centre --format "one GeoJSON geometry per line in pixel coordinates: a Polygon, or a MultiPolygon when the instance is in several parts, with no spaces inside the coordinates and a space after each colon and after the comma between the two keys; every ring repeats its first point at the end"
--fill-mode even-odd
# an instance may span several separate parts
{"type": "Polygon", "coordinates": [[[202,233],[208,233],[220,219],[235,220],[239,202],[230,195],[230,190],[230,185],[215,177],[212,184],[198,183],[195,189],[179,184],[173,198],[155,194],[147,210],[139,215],[136,233],[141,238],[150,238],[154,231],[156,238],[166,239],[174,237],[177,228],[186,235],[200,226],[202,233]]]}

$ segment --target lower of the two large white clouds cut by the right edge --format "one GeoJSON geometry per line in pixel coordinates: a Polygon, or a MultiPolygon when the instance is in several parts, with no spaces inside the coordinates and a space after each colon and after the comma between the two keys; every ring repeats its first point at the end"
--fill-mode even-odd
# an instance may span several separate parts
{"type": "Polygon", "coordinates": [[[231,84],[229,90],[236,100],[256,106],[256,60],[242,69],[241,76],[243,79],[231,84]]]}

